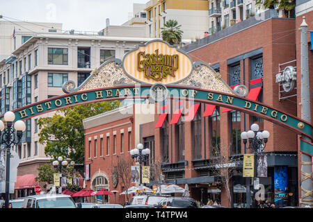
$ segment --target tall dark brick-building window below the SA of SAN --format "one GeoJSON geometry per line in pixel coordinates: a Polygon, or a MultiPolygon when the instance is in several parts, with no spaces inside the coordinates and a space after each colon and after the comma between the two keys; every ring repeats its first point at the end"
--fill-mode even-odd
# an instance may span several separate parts
{"type": "Polygon", "coordinates": [[[220,150],[220,112],[218,107],[209,117],[209,138],[211,141],[211,155],[215,156],[220,150]]]}

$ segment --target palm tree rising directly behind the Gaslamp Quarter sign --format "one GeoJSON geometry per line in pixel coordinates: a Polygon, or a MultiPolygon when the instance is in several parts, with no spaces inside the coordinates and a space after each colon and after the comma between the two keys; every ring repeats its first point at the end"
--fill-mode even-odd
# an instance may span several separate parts
{"type": "Polygon", "coordinates": [[[162,39],[169,44],[180,44],[182,42],[182,30],[181,25],[178,25],[176,20],[168,20],[164,24],[164,28],[161,28],[162,39]]]}

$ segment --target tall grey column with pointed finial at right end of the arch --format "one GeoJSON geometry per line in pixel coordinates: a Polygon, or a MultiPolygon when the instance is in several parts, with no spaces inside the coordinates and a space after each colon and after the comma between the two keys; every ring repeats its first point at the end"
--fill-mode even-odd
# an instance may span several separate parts
{"type": "MultiPolygon", "coordinates": [[[[309,60],[307,47],[307,24],[305,17],[300,25],[301,31],[301,118],[307,122],[311,122],[310,110],[310,82],[309,82],[309,60]]],[[[312,142],[310,138],[303,137],[308,142],[312,142]]],[[[301,206],[313,205],[312,198],[312,157],[305,153],[301,154],[301,206]]]]}

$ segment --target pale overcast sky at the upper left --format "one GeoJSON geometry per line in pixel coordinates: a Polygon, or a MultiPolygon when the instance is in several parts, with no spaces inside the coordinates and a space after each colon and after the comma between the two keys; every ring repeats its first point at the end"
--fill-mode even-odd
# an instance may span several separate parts
{"type": "Polygon", "coordinates": [[[28,22],[58,22],[63,30],[100,31],[127,22],[133,3],[149,0],[0,0],[0,15],[28,22]]]}

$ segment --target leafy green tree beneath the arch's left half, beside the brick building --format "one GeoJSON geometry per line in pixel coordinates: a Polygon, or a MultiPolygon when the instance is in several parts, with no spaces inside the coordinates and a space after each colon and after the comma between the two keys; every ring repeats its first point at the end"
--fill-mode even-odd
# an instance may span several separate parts
{"type": "Polygon", "coordinates": [[[53,117],[38,119],[39,143],[45,144],[45,154],[70,158],[83,163],[84,129],[83,119],[118,108],[120,101],[105,101],[77,105],[58,110],[53,117]]]}

